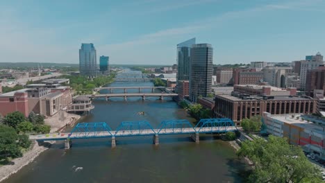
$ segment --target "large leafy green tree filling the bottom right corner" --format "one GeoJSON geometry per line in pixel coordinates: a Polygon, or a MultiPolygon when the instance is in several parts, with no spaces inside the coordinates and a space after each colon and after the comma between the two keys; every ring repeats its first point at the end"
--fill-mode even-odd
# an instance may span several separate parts
{"type": "Polygon", "coordinates": [[[290,145],[285,138],[269,136],[244,141],[239,157],[253,163],[249,182],[321,182],[319,170],[311,164],[299,146],[290,145]]]}

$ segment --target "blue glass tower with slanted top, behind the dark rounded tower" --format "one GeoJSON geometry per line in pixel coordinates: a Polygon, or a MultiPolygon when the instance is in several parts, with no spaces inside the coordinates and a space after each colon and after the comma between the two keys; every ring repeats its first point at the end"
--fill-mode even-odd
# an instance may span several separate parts
{"type": "Polygon", "coordinates": [[[190,78],[190,48],[195,44],[195,37],[177,44],[177,80],[190,78]]]}

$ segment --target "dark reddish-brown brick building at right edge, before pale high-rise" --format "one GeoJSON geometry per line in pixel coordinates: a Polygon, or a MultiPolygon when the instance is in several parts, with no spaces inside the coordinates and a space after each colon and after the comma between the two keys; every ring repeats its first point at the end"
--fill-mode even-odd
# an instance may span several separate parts
{"type": "Polygon", "coordinates": [[[308,70],[306,76],[306,94],[315,97],[314,89],[325,90],[325,67],[318,67],[318,69],[308,70]]]}

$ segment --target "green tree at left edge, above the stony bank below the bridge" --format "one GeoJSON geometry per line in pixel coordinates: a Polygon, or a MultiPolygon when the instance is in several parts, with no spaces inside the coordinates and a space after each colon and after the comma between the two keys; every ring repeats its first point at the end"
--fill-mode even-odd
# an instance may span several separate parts
{"type": "Polygon", "coordinates": [[[22,152],[17,145],[18,135],[14,128],[0,125],[0,156],[2,158],[21,157],[22,152]]]}

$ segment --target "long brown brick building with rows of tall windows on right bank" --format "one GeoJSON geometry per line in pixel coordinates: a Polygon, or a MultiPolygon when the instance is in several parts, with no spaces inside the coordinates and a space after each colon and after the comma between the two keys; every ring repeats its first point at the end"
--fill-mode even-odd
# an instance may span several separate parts
{"type": "Polygon", "coordinates": [[[240,123],[244,118],[270,114],[315,113],[317,101],[308,96],[258,96],[233,92],[231,95],[215,96],[215,115],[240,123]]]}

